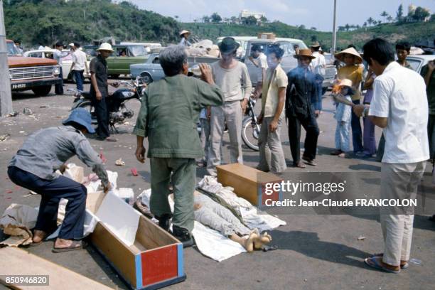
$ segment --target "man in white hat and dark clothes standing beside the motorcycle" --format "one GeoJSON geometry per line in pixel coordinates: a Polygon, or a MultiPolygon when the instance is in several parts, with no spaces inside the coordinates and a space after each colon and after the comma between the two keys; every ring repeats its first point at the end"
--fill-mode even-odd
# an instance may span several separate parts
{"type": "Polygon", "coordinates": [[[109,109],[107,108],[107,97],[109,96],[109,90],[107,85],[112,87],[118,87],[117,82],[108,84],[107,82],[107,62],[106,58],[113,53],[112,45],[109,43],[102,43],[100,48],[97,49],[100,53],[96,58],[93,58],[90,62],[91,73],[91,87],[90,93],[92,96],[92,105],[95,108],[95,114],[97,114],[97,134],[98,139],[105,141],[118,141],[110,136],[109,131],[109,109]]]}

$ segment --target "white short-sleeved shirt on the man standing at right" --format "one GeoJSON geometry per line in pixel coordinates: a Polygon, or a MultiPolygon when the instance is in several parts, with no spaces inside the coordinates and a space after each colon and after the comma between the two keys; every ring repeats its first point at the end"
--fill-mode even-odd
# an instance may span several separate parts
{"type": "Polygon", "coordinates": [[[388,118],[384,163],[429,159],[428,103],[423,77],[397,62],[376,77],[369,115],[388,118]]]}

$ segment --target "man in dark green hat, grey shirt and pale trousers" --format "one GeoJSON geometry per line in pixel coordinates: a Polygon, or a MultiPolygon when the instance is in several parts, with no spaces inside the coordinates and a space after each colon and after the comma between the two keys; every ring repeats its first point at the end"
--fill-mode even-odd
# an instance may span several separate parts
{"type": "Polygon", "coordinates": [[[239,43],[232,37],[226,37],[218,46],[222,58],[212,63],[211,68],[215,83],[224,94],[225,102],[220,107],[211,108],[211,140],[207,171],[212,176],[216,176],[216,166],[221,162],[220,146],[225,122],[230,134],[230,162],[243,163],[242,119],[252,92],[251,79],[245,63],[235,59],[239,43]]]}

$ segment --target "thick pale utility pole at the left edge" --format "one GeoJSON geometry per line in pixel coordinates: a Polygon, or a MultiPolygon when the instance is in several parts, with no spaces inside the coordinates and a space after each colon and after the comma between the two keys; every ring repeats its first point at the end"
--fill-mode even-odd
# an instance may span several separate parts
{"type": "Polygon", "coordinates": [[[0,117],[12,112],[11,79],[4,29],[3,0],[0,0],[0,117]]]}

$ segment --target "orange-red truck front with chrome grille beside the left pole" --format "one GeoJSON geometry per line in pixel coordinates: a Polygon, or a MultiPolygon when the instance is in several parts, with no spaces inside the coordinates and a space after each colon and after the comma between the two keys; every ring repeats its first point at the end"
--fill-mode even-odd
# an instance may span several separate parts
{"type": "Polygon", "coordinates": [[[23,57],[11,40],[6,40],[6,49],[12,91],[32,90],[35,95],[46,96],[53,85],[61,82],[57,61],[23,57]]]}

